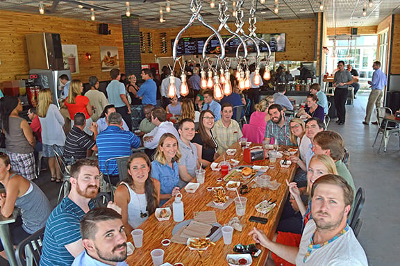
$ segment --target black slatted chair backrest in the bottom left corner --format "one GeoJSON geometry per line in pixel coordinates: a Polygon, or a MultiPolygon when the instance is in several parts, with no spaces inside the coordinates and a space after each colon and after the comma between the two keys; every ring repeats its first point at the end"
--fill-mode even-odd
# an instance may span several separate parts
{"type": "Polygon", "coordinates": [[[19,242],[15,249],[18,266],[39,265],[40,255],[42,255],[43,236],[44,227],[19,242]]]}

